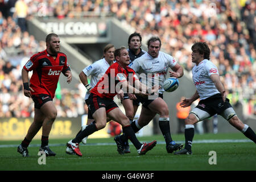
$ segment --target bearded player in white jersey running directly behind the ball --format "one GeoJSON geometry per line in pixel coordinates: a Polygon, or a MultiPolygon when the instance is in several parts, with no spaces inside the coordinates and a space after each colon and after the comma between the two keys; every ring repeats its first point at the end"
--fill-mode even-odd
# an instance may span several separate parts
{"type": "MultiPolygon", "coordinates": [[[[158,37],[152,37],[147,42],[148,52],[144,53],[138,59],[135,59],[129,66],[134,69],[141,77],[143,84],[147,86],[160,85],[162,87],[168,68],[171,68],[170,77],[180,78],[183,76],[183,68],[177,63],[174,57],[160,51],[161,40],[158,37]],[[143,77],[144,75],[144,77],[143,77]],[[146,79],[147,78],[147,79],[146,79]],[[148,79],[150,78],[150,79],[148,79]]],[[[164,89],[160,88],[157,98],[142,98],[137,96],[142,103],[142,110],[139,119],[131,122],[131,126],[137,133],[143,126],[146,126],[156,114],[159,114],[159,127],[166,140],[166,150],[168,153],[180,150],[183,144],[175,143],[171,137],[169,110],[166,102],[163,100],[164,89]]],[[[121,135],[121,140],[125,141],[125,136],[121,135]]]]}

